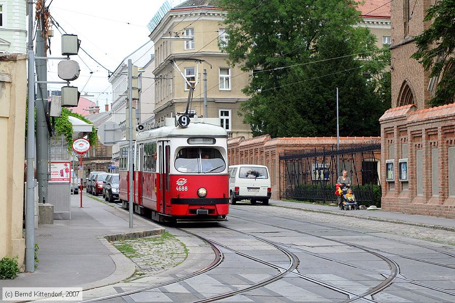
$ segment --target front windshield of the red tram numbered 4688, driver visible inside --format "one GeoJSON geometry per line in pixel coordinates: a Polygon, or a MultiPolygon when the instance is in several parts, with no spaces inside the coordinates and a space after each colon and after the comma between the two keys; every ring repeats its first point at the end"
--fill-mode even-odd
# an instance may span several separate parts
{"type": "Polygon", "coordinates": [[[175,168],[182,173],[219,173],[226,164],[215,148],[188,147],[178,151],[175,168]]]}

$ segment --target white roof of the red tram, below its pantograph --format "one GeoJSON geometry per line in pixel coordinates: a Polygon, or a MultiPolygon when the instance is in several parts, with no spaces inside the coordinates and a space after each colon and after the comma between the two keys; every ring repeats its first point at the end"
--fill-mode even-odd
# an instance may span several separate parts
{"type": "Polygon", "coordinates": [[[214,125],[214,121],[205,122],[204,119],[198,119],[198,121],[190,122],[188,127],[180,128],[174,125],[174,119],[171,120],[172,125],[168,125],[168,121],[166,121],[166,126],[139,132],[136,134],[136,140],[144,140],[151,137],[228,137],[228,132],[221,126],[214,125]]]}

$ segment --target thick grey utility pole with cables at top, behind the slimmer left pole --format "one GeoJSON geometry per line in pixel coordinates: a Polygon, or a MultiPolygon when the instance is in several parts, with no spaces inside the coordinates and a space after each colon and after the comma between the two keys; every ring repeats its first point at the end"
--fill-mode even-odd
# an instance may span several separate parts
{"type": "MultiPolygon", "coordinates": [[[[44,6],[44,1],[40,0],[44,6]]],[[[43,8],[43,11],[45,8],[43,8]]],[[[39,15],[36,29],[36,57],[47,57],[45,51],[45,37],[42,36],[44,28],[43,14],[39,15]]],[[[44,33],[45,36],[45,33],[44,33]]],[[[47,61],[35,60],[37,81],[47,81],[47,61]]],[[[46,122],[46,108],[48,103],[48,85],[38,83],[36,89],[36,161],[38,178],[39,203],[46,203],[48,200],[48,172],[49,172],[49,133],[46,122]]]]}

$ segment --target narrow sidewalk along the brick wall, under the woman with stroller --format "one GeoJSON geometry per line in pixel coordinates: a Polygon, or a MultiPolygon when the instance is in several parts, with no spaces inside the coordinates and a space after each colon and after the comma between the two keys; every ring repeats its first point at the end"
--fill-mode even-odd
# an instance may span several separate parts
{"type": "Polygon", "coordinates": [[[360,219],[391,222],[398,224],[407,224],[455,232],[455,220],[453,219],[420,215],[408,215],[396,212],[383,212],[381,210],[341,211],[337,207],[328,205],[298,203],[279,200],[270,200],[270,205],[292,209],[301,209],[308,212],[333,214],[338,216],[348,216],[360,219]]]}

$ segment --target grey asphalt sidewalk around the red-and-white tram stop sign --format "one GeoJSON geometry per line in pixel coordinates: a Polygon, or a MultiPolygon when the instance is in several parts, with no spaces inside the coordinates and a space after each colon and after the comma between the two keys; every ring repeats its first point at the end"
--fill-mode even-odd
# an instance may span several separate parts
{"type": "Polygon", "coordinates": [[[134,265],[103,235],[150,231],[164,228],[135,218],[128,227],[128,213],[96,201],[85,193],[71,196],[71,220],[54,214],[54,225],[35,230],[39,245],[38,267],[32,274],[21,273],[14,280],[0,280],[1,287],[82,287],[90,289],[119,282],[134,273],[134,265]],[[59,218],[59,219],[57,219],[59,218]]]}

